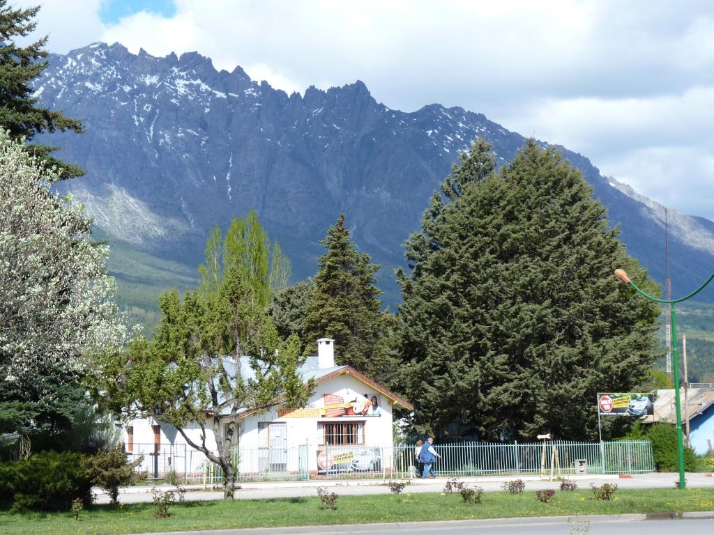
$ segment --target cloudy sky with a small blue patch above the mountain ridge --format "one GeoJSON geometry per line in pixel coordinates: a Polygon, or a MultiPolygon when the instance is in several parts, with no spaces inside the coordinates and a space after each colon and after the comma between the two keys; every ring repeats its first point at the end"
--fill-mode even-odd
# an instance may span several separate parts
{"type": "Polygon", "coordinates": [[[462,106],[714,220],[714,2],[16,0],[66,53],[198,51],[285,91],[462,106]]]}

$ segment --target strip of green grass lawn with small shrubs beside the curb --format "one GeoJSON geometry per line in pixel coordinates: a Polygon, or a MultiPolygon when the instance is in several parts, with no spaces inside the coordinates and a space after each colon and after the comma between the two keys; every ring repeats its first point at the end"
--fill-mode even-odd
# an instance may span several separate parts
{"type": "Polygon", "coordinates": [[[0,533],[131,534],[149,531],[227,529],[318,524],[363,524],[420,520],[463,520],[509,516],[568,516],[671,511],[714,511],[714,489],[620,489],[615,501],[597,501],[592,492],[556,491],[550,503],[535,492],[483,494],[482,504],[465,504],[458,494],[342,496],[336,511],[323,511],[317,498],[193,501],[176,504],[168,519],[154,518],[153,504],[131,504],[111,510],[96,506],[82,511],[79,521],[68,513],[10,514],[0,512],[0,533]]]}

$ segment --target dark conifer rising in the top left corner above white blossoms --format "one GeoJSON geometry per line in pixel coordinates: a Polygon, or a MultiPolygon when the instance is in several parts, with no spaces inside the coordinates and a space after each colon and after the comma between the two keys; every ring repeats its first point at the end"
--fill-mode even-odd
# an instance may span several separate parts
{"type": "MultiPolygon", "coordinates": [[[[81,133],[80,121],[66,117],[61,111],[39,108],[33,96],[31,81],[47,68],[47,36],[27,46],[17,46],[14,39],[34,31],[34,21],[40,6],[14,9],[6,0],[0,0],[0,128],[10,132],[11,138],[30,141],[43,132],[71,130],[81,133]]],[[[84,174],[78,165],[64,163],[49,156],[58,147],[41,144],[27,146],[27,150],[46,160],[46,165],[56,165],[59,178],[74,178],[84,174]]]]}

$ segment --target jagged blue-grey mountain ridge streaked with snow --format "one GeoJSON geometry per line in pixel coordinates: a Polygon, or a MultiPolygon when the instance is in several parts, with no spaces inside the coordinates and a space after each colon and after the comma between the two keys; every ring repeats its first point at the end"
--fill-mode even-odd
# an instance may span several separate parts
{"type": "MultiPolygon", "coordinates": [[[[361,81],[288,95],[240,67],[217,71],[195,52],[158,58],[96,43],[49,62],[36,96],[81,118],[86,133],[43,141],[86,169],[60,187],[86,203],[111,239],[196,265],[211,226],[225,228],[255,208],[302,278],[314,272],[318,240],[344,212],[358,246],[384,265],[381,286],[391,301],[401,245],[458,152],[478,136],[503,162],[525,141],[462,108],[391,110],[361,81]]],[[[563,154],[608,206],[630,253],[662,282],[663,209],[603,178],[587,158],[563,154]]],[[[680,221],[670,234],[675,291],[714,265],[714,223],[680,221]]]]}

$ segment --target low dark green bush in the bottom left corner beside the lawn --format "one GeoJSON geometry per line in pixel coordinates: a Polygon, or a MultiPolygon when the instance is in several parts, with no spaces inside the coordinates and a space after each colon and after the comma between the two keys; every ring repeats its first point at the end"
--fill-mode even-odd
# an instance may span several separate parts
{"type": "Polygon", "coordinates": [[[77,453],[41,452],[0,464],[0,501],[13,511],[66,511],[74,499],[91,504],[91,483],[77,453]]]}

